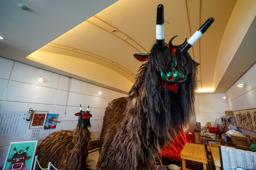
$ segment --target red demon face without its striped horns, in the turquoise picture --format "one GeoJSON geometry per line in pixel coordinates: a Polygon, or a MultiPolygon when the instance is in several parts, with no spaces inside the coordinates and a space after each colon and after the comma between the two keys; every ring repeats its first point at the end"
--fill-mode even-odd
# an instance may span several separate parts
{"type": "MultiPolygon", "coordinates": [[[[20,150],[22,151],[22,150],[20,150]]],[[[20,153],[19,151],[19,153],[20,153]]],[[[22,151],[23,152],[23,151],[22,151]]],[[[25,160],[30,159],[30,156],[27,156],[27,153],[22,155],[22,152],[17,156],[12,156],[12,159],[7,159],[7,162],[11,162],[11,170],[19,170],[25,166],[25,160]]]]}

